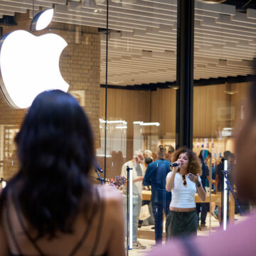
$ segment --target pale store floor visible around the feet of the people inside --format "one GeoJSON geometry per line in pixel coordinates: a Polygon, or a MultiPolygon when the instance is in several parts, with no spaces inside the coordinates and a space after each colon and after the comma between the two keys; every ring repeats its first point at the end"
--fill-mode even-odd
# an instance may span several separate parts
{"type": "MultiPolygon", "coordinates": [[[[239,214],[235,215],[235,222],[234,225],[237,223],[240,223],[242,220],[245,220],[247,218],[247,215],[243,215],[240,216],[239,214]]],[[[164,223],[165,225],[165,223],[164,223]]],[[[134,249],[134,250],[129,250],[129,255],[130,256],[135,256],[135,255],[144,255],[146,252],[148,252],[149,250],[151,250],[152,248],[154,248],[154,230],[151,229],[152,227],[154,227],[154,225],[149,225],[149,226],[142,226],[142,228],[138,229],[138,240],[139,242],[142,243],[142,245],[146,246],[146,249],[144,250],[138,250],[138,249],[134,249]]],[[[202,228],[201,230],[198,229],[198,235],[202,236],[206,236],[206,235],[210,235],[216,232],[216,230],[220,229],[220,225],[218,220],[216,220],[214,218],[214,216],[210,216],[210,213],[207,214],[206,217],[206,228],[202,228]],[[211,228],[209,228],[211,227],[211,228]]],[[[165,234],[164,234],[165,236],[165,234]]]]}

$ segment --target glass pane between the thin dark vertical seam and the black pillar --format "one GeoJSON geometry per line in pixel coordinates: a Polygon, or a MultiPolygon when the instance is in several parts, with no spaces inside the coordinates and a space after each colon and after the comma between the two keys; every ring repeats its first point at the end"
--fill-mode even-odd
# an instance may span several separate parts
{"type": "MultiPolygon", "coordinates": [[[[107,43],[107,62],[101,63],[102,70],[107,66],[108,85],[106,177],[129,178],[129,166],[134,180],[128,203],[133,231],[126,246],[149,250],[154,244],[151,191],[142,186],[142,179],[135,179],[144,176],[146,159],[156,161],[160,144],[168,150],[175,142],[175,1],[109,1],[109,36],[102,35],[101,48],[107,43]],[[145,244],[144,238],[152,240],[145,244]]],[[[103,97],[106,80],[102,74],[101,78],[103,97]]],[[[100,114],[105,122],[102,105],[100,114]]],[[[127,213],[126,186],[121,191],[127,213]]]]}

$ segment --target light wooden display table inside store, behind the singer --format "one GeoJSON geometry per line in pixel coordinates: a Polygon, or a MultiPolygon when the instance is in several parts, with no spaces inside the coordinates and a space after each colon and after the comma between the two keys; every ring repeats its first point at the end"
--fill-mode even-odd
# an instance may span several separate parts
{"type": "MultiPolygon", "coordinates": [[[[150,201],[151,198],[151,191],[142,191],[142,199],[143,200],[148,200],[150,201]]],[[[215,195],[215,194],[206,194],[206,201],[201,201],[201,199],[198,196],[198,193],[195,195],[195,201],[196,203],[210,203],[210,202],[215,202],[218,198],[220,198],[220,195],[215,195]]],[[[229,215],[229,220],[230,222],[234,221],[235,218],[235,200],[230,193],[229,196],[229,203],[228,203],[228,215],[229,215]]]]}

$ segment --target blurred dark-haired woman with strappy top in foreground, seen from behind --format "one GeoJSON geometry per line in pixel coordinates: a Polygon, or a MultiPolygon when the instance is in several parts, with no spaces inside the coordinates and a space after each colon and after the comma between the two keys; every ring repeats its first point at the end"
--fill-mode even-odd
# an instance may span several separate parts
{"type": "Polygon", "coordinates": [[[42,92],[15,142],[20,168],[0,198],[1,255],[124,255],[122,196],[95,186],[92,130],[77,100],[42,92]]]}

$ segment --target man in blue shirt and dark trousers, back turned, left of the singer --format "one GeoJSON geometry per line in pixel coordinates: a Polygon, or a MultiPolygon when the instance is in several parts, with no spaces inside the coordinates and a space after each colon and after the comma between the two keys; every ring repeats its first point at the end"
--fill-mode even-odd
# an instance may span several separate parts
{"type": "Polygon", "coordinates": [[[166,149],[159,146],[158,160],[149,164],[144,176],[143,185],[151,185],[151,203],[155,220],[155,240],[161,243],[163,238],[163,209],[165,215],[169,211],[171,192],[166,191],[166,176],[170,171],[170,162],[164,159],[166,149]]]}

